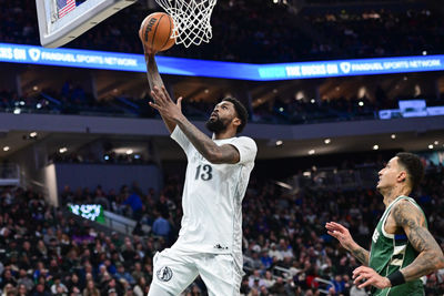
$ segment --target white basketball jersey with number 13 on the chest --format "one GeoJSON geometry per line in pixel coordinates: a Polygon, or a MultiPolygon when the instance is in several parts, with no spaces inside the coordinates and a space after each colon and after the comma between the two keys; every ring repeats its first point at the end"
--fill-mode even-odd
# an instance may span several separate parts
{"type": "Polygon", "coordinates": [[[192,253],[233,254],[242,267],[242,200],[258,147],[251,137],[213,140],[236,147],[236,164],[206,161],[176,126],[171,134],[188,159],[182,195],[183,217],[172,248],[192,253]]]}

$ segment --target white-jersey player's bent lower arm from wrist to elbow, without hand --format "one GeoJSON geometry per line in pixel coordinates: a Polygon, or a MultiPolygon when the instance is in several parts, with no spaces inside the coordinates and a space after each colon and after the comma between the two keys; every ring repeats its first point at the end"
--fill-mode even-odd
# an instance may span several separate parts
{"type": "Polygon", "coordinates": [[[202,133],[195,127],[185,116],[180,116],[176,124],[186,135],[188,140],[193,146],[205,157],[209,162],[214,164],[239,163],[241,155],[236,147],[230,144],[216,145],[206,134],[202,133]]]}

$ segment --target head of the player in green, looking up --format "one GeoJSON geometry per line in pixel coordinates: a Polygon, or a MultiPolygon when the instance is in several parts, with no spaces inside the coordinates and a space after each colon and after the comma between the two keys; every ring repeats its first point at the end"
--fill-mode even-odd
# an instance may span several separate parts
{"type": "Polygon", "coordinates": [[[405,184],[410,192],[417,188],[424,175],[420,157],[412,153],[401,152],[390,160],[379,173],[377,190],[391,188],[405,184]]]}

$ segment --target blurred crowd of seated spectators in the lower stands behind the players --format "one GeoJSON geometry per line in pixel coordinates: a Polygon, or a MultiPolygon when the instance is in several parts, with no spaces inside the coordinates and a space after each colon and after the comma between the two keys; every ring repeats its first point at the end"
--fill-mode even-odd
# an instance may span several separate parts
{"type": "MultiPolygon", "coordinates": [[[[415,197],[444,247],[443,181],[444,166],[430,165],[415,197]]],[[[324,225],[343,224],[369,248],[384,211],[382,197],[373,188],[322,188],[314,187],[315,182],[309,178],[294,192],[272,180],[251,180],[243,202],[242,295],[366,295],[351,279],[360,263],[326,234],[324,225]]],[[[181,193],[176,175],[167,177],[161,192],[133,184],[110,192],[65,186],[60,193],[63,204],[99,203],[138,221],[133,233],[124,236],[101,232],[64,206],[48,205],[36,192],[1,190],[2,295],[145,295],[152,256],[178,235],[181,193]]],[[[426,295],[444,293],[444,271],[423,280],[426,295]]],[[[196,280],[184,295],[205,295],[205,287],[196,280]]]]}

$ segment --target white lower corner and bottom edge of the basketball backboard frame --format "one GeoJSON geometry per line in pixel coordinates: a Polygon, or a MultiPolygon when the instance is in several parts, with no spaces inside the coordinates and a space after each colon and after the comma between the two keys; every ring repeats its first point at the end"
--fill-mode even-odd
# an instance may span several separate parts
{"type": "Polygon", "coordinates": [[[135,3],[138,0],[88,0],[65,14],[54,20],[52,1],[36,0],[39,19],[40,43],[46,48],[61,47],[104,19],[135,3]]]}

